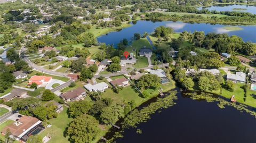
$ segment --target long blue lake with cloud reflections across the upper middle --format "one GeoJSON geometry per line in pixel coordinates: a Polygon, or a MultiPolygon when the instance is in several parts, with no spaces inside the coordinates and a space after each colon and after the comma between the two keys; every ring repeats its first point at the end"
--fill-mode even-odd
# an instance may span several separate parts
{"type": "Polygon", "coordinates": [[[228,31],[223,29],[225,25],[222,24],[209,24],[209,23],[185,23],[185,22],[173,22],[173,21],[159,21],[159,22],[152,22],[152,21],[144,21],[139,20],[136,24],[133,24],[131,27],[124,28],[121,31],[114,31],[108,33],[108,35],[102,35],[98,37],[98,41],[101,43],[106,44],[114,44],[115,46],[119,41],[123,38],[131,40],[133,34],[135,32],[143,34],[143,32],[154,32],[154,29],[159,26],[166,26],[171,27],[175,30],[175,32],[182,32],[182,31],[204,31],[205,33],[208,32],[215,32],[215,33],[228,33],[229,36],[237,35],[242,37],[244,41],[252,41],[256,42],[256,26],[238,26],[243,28],[243,30],[238,31],[228,31]]]}

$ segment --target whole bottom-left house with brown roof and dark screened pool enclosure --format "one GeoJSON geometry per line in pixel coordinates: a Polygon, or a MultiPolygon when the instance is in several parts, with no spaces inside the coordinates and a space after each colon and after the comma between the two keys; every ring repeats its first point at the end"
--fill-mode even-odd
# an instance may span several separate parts
{"type": "Polygon", "coordinates": [[[29,136],[36,135],[44,130],[44,126],[42,125],[42,121],[35,117],[23,115],[17,122],[4,127],[1,133],[6,134],[7,129],[9,129],[12,136],[17,140],[27,141],[29,136]]]}

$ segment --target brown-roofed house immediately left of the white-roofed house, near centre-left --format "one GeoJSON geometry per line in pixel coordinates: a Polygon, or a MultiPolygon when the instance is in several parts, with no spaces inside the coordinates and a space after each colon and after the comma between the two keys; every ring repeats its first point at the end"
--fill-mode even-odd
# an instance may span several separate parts
{"type": "Polygon", "coordinates": [[[63,98],[66,102],[73,102],[75,100],[81,100],[86,96],[86,90],[82,87],[76,88],[74,90],[65,92],[61,94],[60,97],[63,98]]]}

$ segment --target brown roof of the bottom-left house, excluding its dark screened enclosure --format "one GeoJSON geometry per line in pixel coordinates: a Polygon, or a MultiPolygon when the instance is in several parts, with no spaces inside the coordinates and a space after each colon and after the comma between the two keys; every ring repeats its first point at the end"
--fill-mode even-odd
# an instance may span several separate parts
{"type": "Polygon", "coordinates": [[[35,117],[31,116],[22,116],[20,119],[12,124],[7,125],[3,130],[1,131],[2,133],[6,133],[6,130],[9,129],[11,134],[14,136],[20,136],[21,133],[25,132],[28,130],[30,127],[32,127],[35,123],[37,123],[39,120],[36,119],[35,117]]]}

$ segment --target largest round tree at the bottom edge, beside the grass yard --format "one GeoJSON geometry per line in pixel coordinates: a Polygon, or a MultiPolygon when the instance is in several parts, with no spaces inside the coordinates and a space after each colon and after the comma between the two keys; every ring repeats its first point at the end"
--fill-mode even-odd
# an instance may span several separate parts
{"type": "Polygon", "coordinates": [[[99,122],[90,115],[76,117],[67,129],[67,135],[71,142],[89,143],[98,137],[100,129],[99,122]]]}

